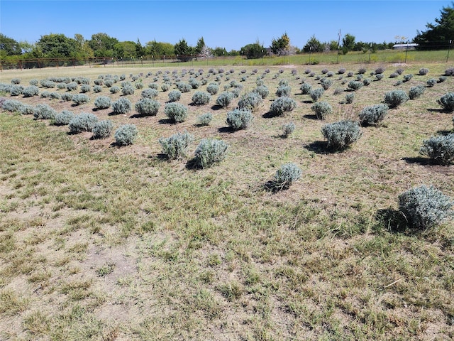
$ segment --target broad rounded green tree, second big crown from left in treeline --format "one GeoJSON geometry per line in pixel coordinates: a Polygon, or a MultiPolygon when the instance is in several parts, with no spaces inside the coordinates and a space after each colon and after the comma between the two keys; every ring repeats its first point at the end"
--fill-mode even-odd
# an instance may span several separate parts
{"type": "Polygon", "coordinates": [[[45,58],[77,57],[77,43],[64,34],[48,34],[41,36],[36,43],[45,58]]]}

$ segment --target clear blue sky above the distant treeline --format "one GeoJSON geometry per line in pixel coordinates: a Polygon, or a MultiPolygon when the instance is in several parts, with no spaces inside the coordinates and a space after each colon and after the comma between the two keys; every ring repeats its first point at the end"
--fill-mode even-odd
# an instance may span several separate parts
{"type": "MultiPolygon", "coordinates": [[[[120,41],[150,40],[239,50],[257,40],[269,46],[287,32],[302,48],[311,36],[321,41],[345,33],[357,41],[410,40],[453,1],[23,1],[0,0],[0,32],[35,43],[41,36],[79,33],[87,40],[107,33],[120,41]]],[[[454,38],[454,37],[453,37],[454,38]]]]}

